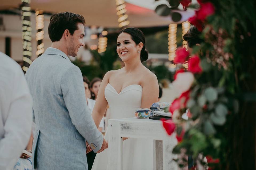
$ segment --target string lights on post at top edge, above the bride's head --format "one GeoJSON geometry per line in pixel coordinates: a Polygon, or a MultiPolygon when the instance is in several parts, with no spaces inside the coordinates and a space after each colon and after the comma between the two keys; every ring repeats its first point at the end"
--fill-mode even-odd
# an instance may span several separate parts
{"type": "Polygon", "coordinates": [[[128,15],[125,14],[126,10],[126,5],[125,1],[123,0],[115,0],[115,4],[117,5],[117,16],[118,16],[118,27],[122,28],[130,24],[130,21],[128,20],[128,15]]]}

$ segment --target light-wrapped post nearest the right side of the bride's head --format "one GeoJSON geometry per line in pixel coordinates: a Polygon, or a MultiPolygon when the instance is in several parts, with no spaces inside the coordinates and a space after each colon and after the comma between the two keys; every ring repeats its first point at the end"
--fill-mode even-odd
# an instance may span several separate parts
{"type": "Polygon", "coordinates": [[[177,49],[177,40],[176,40],[176,33],[177,33],[177,24],[170,24],[169,31],[168,31],[168,59],[169,61],[173,61],[175,57],[175,50],[177,49]]]}

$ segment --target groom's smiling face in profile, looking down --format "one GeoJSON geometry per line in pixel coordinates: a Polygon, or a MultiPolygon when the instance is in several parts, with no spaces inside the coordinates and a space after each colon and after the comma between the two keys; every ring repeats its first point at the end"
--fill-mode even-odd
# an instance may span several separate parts
{"type": "Polygon", "coordinates": [[[68,39],[68,55],[75,57],[81,46],[84,46],[83,37],[85,36],[85,27],[82,23],[77,23],[77,30],[74,31],[74,34],[71,35],[68,39]]]}

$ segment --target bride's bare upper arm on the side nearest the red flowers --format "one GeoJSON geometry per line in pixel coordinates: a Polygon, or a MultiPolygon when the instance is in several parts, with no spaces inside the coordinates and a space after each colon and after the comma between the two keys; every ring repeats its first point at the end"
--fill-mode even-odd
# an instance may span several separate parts
{"type": "Polygon", "coordinates": [[[156,75],[153,73],[146,75],[141,85],[141,108],[150,108],[153,103],[157,102],[159,96],[159,85],[156,75]]]}

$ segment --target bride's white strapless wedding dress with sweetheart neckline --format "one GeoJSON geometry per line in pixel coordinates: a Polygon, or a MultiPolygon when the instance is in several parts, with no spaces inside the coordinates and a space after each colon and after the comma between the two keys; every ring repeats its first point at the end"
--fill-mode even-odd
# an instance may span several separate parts
{"type": "MultiPolygon", "coordinates": [[[[130,85],[118,94],[111,84],[107,84],[105,97],[109,103],[111,119],[135,117],[135,111],[141,107],[142,87],[138,84],[130,85]]],[[[106,131],[106,141],[108,138],[106,131]]],[[[150,139],[129,138],[123,141],[123,170],[152,170],[152,148],[153,140],[150,139]]],[[[108,149],[105,149],[96,155],[92,170],[106,170],[107,160],[108,149]]]]}

